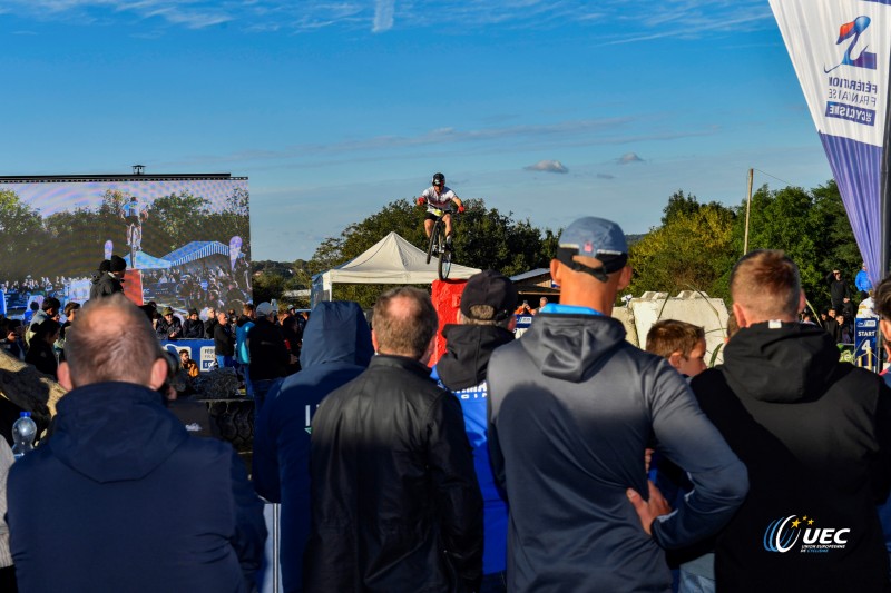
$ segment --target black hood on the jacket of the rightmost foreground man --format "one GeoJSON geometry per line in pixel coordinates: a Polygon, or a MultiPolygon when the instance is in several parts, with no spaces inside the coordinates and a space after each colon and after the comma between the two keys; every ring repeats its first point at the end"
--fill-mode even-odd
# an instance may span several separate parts
{"type": "Polygon", "coordinates": [[[740,329],[724,350],[723,372],[736,393],[764,402],[799,402],[825,393],[839,348],[819,326],[764,322],[740,329]]]}

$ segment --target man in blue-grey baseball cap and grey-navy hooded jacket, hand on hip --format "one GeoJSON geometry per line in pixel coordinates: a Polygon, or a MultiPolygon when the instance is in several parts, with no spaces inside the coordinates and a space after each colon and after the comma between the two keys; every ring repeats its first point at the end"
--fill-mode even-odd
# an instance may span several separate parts
{"type": "Polygon", "coordinates": [[[509,591],[670,591],[663,548],[715,533],[745,497],[745,467],[684,378],[627,343],[609,317],[631,278],[627,263],[615,223],[569,225],[550,264],[560,303],[489,363],[489,447],[510,508],[509,591]],[[654,437],[696,485],[670,514],[647,483],[654,437]]]}

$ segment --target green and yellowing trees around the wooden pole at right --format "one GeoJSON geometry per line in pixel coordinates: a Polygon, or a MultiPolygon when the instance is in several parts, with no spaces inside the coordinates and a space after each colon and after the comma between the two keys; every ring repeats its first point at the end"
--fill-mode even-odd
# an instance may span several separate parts
{"type": "MultiPolygon", "coordinates": [[[[727,207],[675,192],[662,225],[630,247],[635,275],[628,291],[699,290],[730,303],[730,274],[743,255],[745,208],[745,201],[727,207]]],[[[810,191],[762,186],[752,196],[748,227],[748,250],[783,249],[799,265],[814,307],[829,304],[824,278],[833,268],[854,291],[862,258],[835,181],[810,191]]]]}

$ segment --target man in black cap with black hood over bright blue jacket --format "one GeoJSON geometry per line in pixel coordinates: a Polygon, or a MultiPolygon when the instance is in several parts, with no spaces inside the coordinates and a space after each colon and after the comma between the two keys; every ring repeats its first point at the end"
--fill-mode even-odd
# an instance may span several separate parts
{"type": "Polygon", "coordinates": [[[517,289],[510,278],[487,269],[468,279],[459,325],[447,325],[446,354],[433,368],[433,378],[461,403],[464,429],[473,447],[473,467],[483,502],[482,585],[480,593],[507,590],[508,505],[496,486],[489,463],[486,370],[492,352],[513,342],[517,289]]]}

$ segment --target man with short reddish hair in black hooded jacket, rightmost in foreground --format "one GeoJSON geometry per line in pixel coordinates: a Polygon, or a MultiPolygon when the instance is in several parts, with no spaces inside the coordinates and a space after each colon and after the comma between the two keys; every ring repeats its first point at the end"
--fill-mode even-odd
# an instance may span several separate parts
{"type": "Polygon", "coordinates": [[[783,251],[744,256],[731,296],[740,330],[692,382],[751,484],[717,538],[717,590],[888,591],[875,505],[891,486],[891,391],[796,323],[804,293],[783,251]]]}

